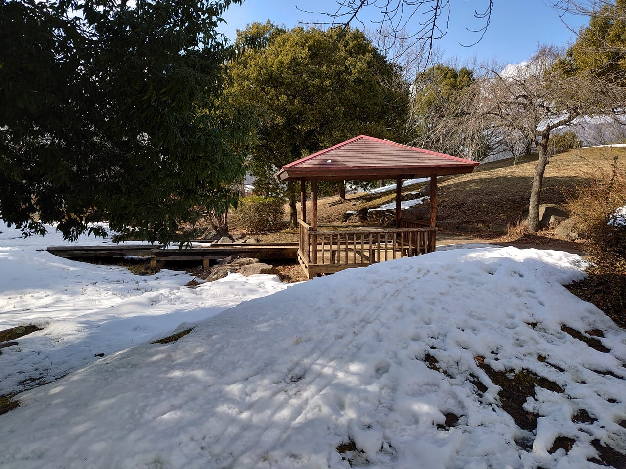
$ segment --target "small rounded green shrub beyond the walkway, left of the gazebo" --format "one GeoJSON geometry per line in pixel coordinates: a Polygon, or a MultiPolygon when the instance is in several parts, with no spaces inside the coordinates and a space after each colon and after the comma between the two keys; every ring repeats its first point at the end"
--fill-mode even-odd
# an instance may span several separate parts
{"type": "Polygon", "coordinates": [[[276,228],[284,214],[281,199],[249,196],[239,201],[232,218],[245,231],[258,232],[276,228]]]}

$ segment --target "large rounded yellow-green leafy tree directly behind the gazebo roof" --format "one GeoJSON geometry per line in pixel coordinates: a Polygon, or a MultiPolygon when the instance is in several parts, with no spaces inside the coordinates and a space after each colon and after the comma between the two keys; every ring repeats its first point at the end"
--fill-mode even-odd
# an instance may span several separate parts
{"type": "MultiPolygon", "coordinates": [[[[284,164],[358,134],[398,139],[406,119],[408,87],[384,81],[398,71],[358,30],[254,24],[239,34],[262,34],[267,46],[230,66],[231,96],[265,114],[260,144],[252,152],[257,186],[277,191],[274,174],[284,164]],[[270,184],[271,186],[272,184],[270,184]]],[[[297,223],[296,184],[287,186],[290,224],[297,223]]]]}

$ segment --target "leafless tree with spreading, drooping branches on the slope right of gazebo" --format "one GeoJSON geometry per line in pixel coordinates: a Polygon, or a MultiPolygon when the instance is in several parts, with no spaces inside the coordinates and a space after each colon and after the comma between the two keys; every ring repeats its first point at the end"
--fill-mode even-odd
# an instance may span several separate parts
{"type": "Polygon", "coordinates": [[[613,79],[597,75],[568,75],[555,68],[562,51],[543,47],[525,64],[503,73],[491,71],[480,96],[480,106],[494,129],[528,136],[539,158],[530,193],[528,228],[539,228],[543,174],[549,162],[553,132],[572,125],[581,116],[616,115],[625,92],[613,79]]]}

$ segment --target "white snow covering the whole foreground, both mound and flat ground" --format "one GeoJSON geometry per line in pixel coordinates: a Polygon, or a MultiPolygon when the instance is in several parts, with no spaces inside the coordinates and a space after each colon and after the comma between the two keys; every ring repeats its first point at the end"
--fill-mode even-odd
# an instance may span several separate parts
{"type": "Polygon", "coordinates": [[[73,350],[64,366],[78,368],[0,416],[3,468],[566,469],[599,467],[593,440],[626,451],[626,331],[563,287],[585,276],[576,255],[473,245],[293,286],[231,275],[189,289],[183,273],[136,278],[0,231],[3,326],[53,318],[3,349],[3,376],[33,352],[54,369],[73,350]],[[610,351],[562,325],[602,330],[610,351]],[[526,400],[535,431],[503,410],[476,357],[563,389],[526,400]],[[573,422],[581,409],[597,421],[573,422]],[[551,454],[558,435],[575,443],[551,454]]]}

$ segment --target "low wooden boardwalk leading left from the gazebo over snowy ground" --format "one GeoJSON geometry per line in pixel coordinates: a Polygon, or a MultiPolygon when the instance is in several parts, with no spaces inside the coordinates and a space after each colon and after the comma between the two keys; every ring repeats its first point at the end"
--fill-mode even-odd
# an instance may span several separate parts
{"type": "Polygon", "coordinates": [[[49,246],[46,251],[68,259],[150,256],[152,265],[156,265],[157,261],[202,260],[208,268],[210,261],[228,256],[297,259],[298,243],[232,243],[182,249],[162,249],[151,245],[49,246]]]}

